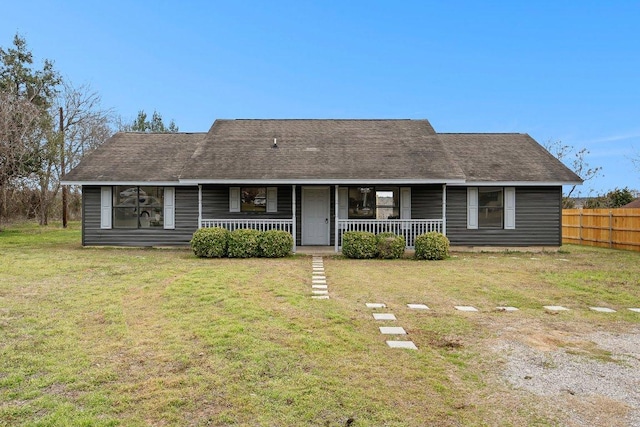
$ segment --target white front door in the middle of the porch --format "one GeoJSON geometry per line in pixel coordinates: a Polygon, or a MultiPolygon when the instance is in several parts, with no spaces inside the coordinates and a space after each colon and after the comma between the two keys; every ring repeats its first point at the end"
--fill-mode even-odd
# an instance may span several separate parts
{"type": "Polygon", "coordinates": [[[302,188],[302,244],[329,245],[329,187],[302,188]]]}

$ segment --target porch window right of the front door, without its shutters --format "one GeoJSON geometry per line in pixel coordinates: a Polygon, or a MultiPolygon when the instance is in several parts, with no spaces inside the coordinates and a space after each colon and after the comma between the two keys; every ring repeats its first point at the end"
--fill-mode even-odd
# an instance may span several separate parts
{"type": "Polygon", "coordinates": [[[349,187],[349,219],[400,218],[399,187],[349,187]]]}

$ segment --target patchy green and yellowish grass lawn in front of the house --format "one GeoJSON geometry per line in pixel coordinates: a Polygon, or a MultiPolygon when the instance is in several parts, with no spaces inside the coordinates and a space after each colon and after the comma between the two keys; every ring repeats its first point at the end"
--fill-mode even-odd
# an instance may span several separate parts
{"type": "Polygon", "coordinates": [[[564,249],[325,258],[323,301],[310,297],[306,256],[206,260],[82,248],[78,224],[9,228],[0,233],[0,425],[556,425],[501,380],[491,342],[507,329],[640,324],[626,309],[640,307],[639,253],[564,249]],[[365,302],[386,303],[419,350],[387,348],[386,323],[365,302]],[[571,311],[550,315],[549,304],[571,311]]]}

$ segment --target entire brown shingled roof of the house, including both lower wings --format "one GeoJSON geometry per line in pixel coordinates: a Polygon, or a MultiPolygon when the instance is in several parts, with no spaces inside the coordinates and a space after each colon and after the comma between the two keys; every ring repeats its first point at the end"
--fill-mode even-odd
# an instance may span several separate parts
{"type": "Polygon", "coordinates": [[[208,133],[117,133],[65,179],[261,181],[581,182],[526,134],[437,134],[427,120],[216,120],[208,133]]]}

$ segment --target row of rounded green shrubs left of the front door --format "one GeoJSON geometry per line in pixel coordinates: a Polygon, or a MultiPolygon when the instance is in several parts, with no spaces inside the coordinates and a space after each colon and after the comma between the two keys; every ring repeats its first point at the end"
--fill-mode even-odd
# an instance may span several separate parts
{"type": "Polygon", "coordinates": [[[191,249],[201,258],[282,258],[291,254],[293,237],[282,230],[200,228],[193,233],[191,249]]]}

